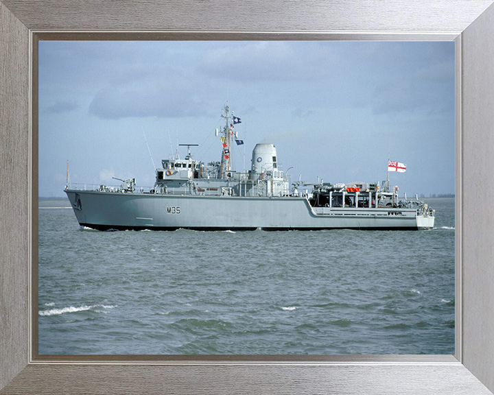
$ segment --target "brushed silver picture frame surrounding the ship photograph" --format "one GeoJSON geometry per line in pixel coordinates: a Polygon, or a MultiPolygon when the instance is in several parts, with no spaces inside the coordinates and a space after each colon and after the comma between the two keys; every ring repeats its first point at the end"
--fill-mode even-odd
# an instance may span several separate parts
{"type": "Polygon", "coordinates": [[[494,6],[489,0],[0,1],[0,394],[491,394],[494,6]],[[454,40],[455,355],[36,355],[36,40],[454,40]],[[112,35],[114,35],[112,37],[112,35]],[[82,37],[82,36],[79,36],[82,37]]]}

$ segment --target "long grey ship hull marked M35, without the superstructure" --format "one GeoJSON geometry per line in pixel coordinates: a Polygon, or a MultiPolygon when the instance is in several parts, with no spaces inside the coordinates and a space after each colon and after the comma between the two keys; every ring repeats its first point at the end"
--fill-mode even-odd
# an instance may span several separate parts
{"type": "Polygon", "coordinates": [[[419,230],[414,208],[311,207],[305,197],[159,195],[66,189],[81,226],[97,230],[419,230]]]}

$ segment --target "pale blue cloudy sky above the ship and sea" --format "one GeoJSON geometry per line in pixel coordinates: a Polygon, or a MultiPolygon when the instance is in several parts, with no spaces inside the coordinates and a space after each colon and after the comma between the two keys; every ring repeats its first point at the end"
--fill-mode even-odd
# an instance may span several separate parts
{"type": "Polygon", "coordinates": [[[152,187],[178,144],[219,161],[226,104],[237,171],[273,143],[292,182],[381,182],[389,158],[400,195],[454,193],[453,42],[41,41],[38,60],[40,197],[65,195],[67,161],[88,187],[152,187]]]}

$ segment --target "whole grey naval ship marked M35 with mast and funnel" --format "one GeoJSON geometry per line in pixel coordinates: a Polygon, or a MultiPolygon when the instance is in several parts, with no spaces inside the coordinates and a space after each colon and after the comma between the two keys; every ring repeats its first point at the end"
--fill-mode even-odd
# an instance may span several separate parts
{"type": "MultiPolygon", "coordinates": [[[[225,106],[221,160],[202,163],[191,156],[167,158],[156,169],[154,187],[136,179],[119,187],[64,189],[80,226],[96,230],[421,230],[434,227],[434,210],[423,201],[399,200],[389,181],[303,182],[290,186],[274,144],[252,150],[250,170],[231,169],[230,148],[240,119],[225,106]]],[[[237,140],[237,143],[243,141],[237,140]]],[[[119,180],[117,178],[117,180],[119,180]]]]}

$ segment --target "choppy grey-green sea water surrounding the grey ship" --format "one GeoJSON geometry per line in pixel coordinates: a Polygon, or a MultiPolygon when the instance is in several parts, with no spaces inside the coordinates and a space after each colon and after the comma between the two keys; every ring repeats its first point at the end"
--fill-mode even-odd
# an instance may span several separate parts
{"type": "Polygon", "coordinates": [[[40,202],[40,354],[453,354],[454,200],[423,231],[99,232],[40,202]]]}

